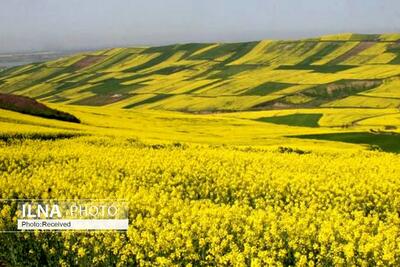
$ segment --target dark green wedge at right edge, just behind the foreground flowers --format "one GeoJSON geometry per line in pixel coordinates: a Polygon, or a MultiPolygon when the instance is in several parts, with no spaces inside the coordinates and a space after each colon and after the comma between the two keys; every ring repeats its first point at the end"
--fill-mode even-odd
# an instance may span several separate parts
{"type": "Polygon", "coordinates": [[[366,144],[371,148],[379,147],[386,152],[400,153],[400,134],[395,133],[330,133],[314,135],[290,136],[302,139],[317,139],[326,141],[337,141],[352,144],[366,144]]]}

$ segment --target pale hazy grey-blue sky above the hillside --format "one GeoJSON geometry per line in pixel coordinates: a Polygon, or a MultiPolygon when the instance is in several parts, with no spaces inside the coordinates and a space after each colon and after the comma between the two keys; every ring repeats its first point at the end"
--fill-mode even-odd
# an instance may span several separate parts
{"type": "Polygon", "coordinates": [[[399,0],[0,0],[0,52],[400,32],[399,0]]]}

